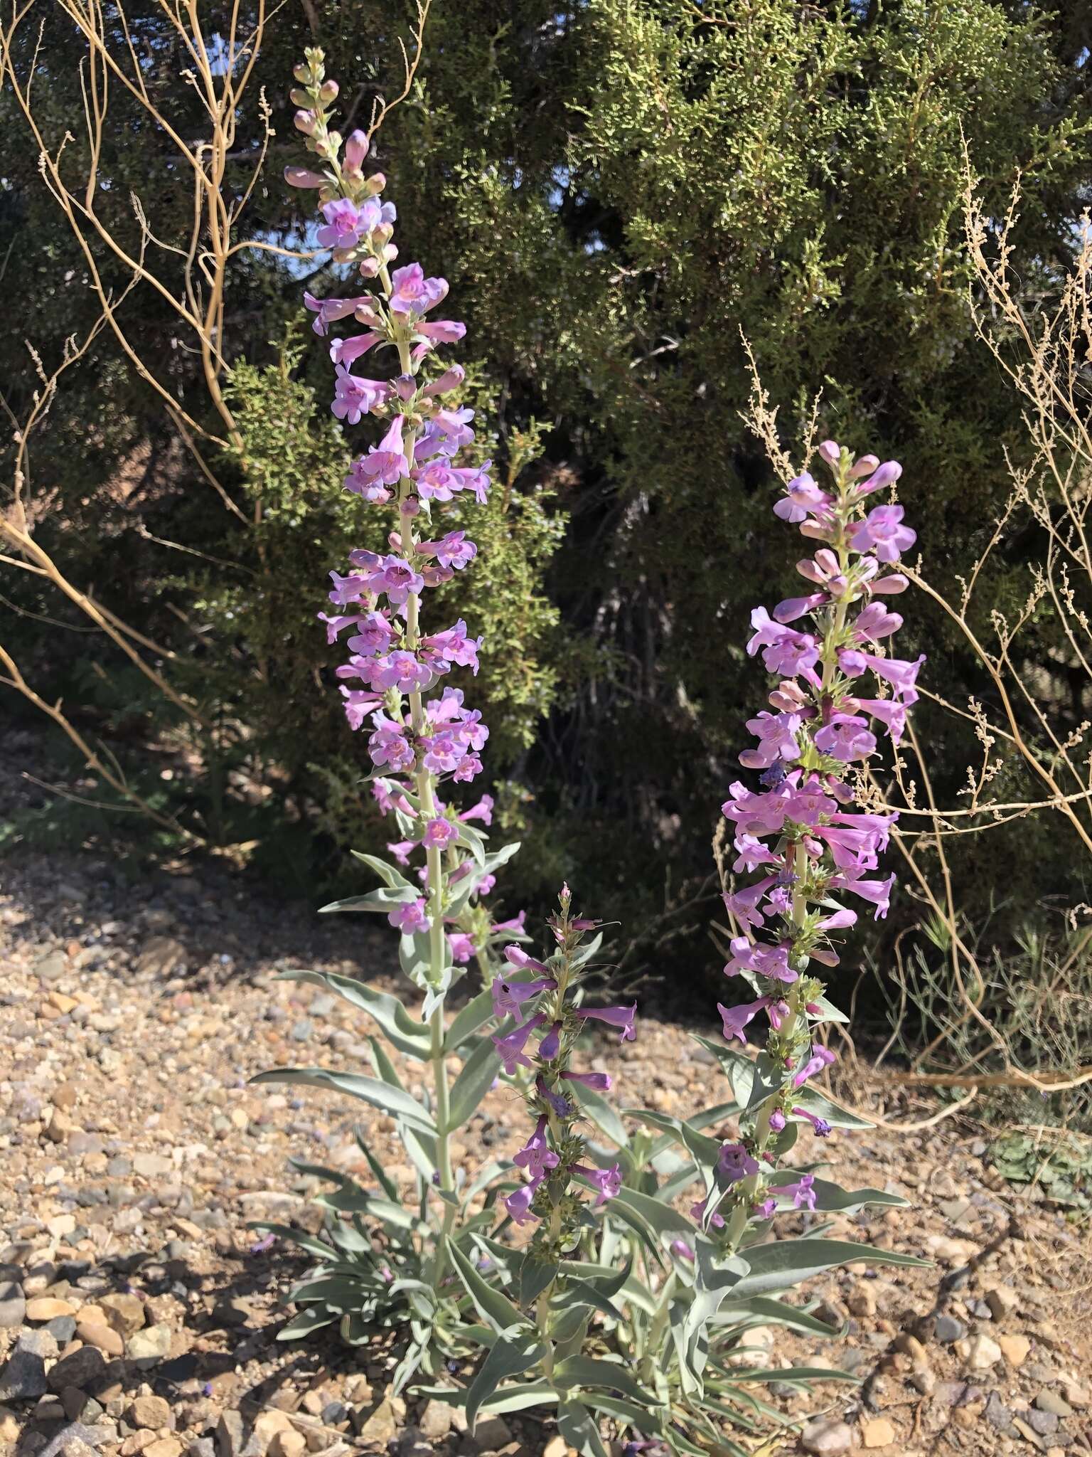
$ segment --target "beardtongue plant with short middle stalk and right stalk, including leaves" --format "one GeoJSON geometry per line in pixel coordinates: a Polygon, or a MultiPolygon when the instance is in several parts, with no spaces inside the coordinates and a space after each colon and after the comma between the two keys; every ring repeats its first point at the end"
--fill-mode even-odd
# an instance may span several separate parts
{"type": "MultiPolygon", "coordinates": [[[[725,973],[756,995],[718,1007],[724,1040],[697,1040],[727,1071],[731,1101],[686,1122],[626,1109],[655,1132],[630,1135],[600,1097],[609,1080],[569,1069],[587,1018],[616,1026],[628,1040],[635,1008],[579,1004],[594,946],[587,954],[572,949],[593,922],[571,918],[563,892],[553,921],[559,950],[536,962],[513,947],[507,956],[521,981],[494,983],[496,1014],[511,1018],[494,1040],[507,1071],[527,1072],[531,1120],[514,1160],[524,1182],[504,1205],[533,1236],[520,1252],[478,1237],[517,1298],[491,1304],[478,1291],[491,1349],[466,1391],[448,1394],[472,1422],[479,1409],[543,1405],[556,1409],[562,1435],[581,1453],[606,1453],[603,1418],[629,1431],[628,1453],[743,1453],[731,1428],[753,1431],[761,1418],[778,1418],[756,1386],[849,1380],[821,1368],[770,1368],[761,1359],[769,1354],[748,1345],[748,1332],[764,1326],[828,1336],[812,1305],[783,1297],[821,1271],[860,1259],[923,1263],[827,1237],[823,1215],[903,1203],[897,1195],[846,1192],[818,1177],[815,1163],[783,1163],[801,1131],[826,1138],[833,1128],[866,1126],[814,1087],[834,1061],[817,1032],[846,1020],[814,967],[837,965],[833,934],[856,921],[840,896],[887,914],[894,877],[877,871],[891,819],[859,809],[852,781],[863,790],[858,771],[877,753],[877,726],[898,743],[922,661],[885,656],[884,647],[901,625],[884,599],[906,587],[885,568],[914,533],[903,525],[901,507],[872,501],[894,485],[900,468],[872,456],[855,460],[833,441],[820,456],[830,488],[804,474],[775,507],[818,543],[814,558],[798,565],[814,590],[782,602],[773,616],[763,608],[753,613],[748,651],[761,651],[778,679],[773,712],[750,720],[757,747],[741,755],[743,766],[759,775],[757,788],[732,784],[724,806],[735,826],[734,870],[757,877],[725,890],[735,931],[725,973]],[[799,624],[808,618],[805,629],[799,624]],[[869,676],[878,683],[872,696],[862,692],[869,676]],[[760,1017],[769,1032],[756,1058],[735,1043],[745,1048],[760,1017]],[[581,1116],[610,1147],[582,1136],[581,1116]],[[729,1116],[737,1120],[731,1138],[706,1132],[729,1116]],[[805,1228],[795,1233],[786,1224],[799,1211],[805,1228]],[[513,1375],[524,1380],[505,1384],[513,1375]]],[[[470,1292],[472,1273],[460,1262],[470,1292]]]]}

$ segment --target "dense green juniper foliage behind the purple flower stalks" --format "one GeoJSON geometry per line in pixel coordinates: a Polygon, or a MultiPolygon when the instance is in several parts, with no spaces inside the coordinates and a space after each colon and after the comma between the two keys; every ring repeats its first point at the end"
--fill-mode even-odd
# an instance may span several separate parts
{"type": "MultiPolygon", "coordinates": [[[[734,771],[745,701],[741,656],[711,628],[745,621],[767,593],[772,559],[760,529],[767,468],[738,417],[750,388],[740,331],[786,433],[823,386],[830,433],[866,437],[904,462],[903,500],[936,574],[954,578],[974,561],[1008,492],[1005,452],[1019,460],[1024,444],[1010,393],[970,325],[962,143],[989,216],[1022,176],[1012,267],[1029,302],[1048,303],[1089,184],[1092,85],[1086,28],[1073,7],[1056,9],[434,6],[419,87],[384,122],[377,160],[399,205],[403,255],[448,277],[467,319],[502,482],[539,423],[549,427],[542,457],[488,508],[485,570],[467,603],[486,638],[473,686],[488,699],[492,769],[526,796],[534,854],[523,857],[520,890],[539,896],[568,876],[641,934],[649,887],[657,900],[686,903],[703,879],[706,807],[734,771]]],[[[395,95],[396,36],[412,10],[409,0],[381,13],[349,0],[322,9],[317,35],[301,13],[278,12],[255,83],[282,108],[291,60],[317,41],[333,71],[395,95]]],[[[73,125],[80,44],[60,13],[44,7],[44,19],[41,121],[51,144],[73,131],[66,156],[76,170],[86,160],[73,125]]],[[[157,57],[154,99],[183,134],[198,134],[199,101],[178,82],[176,39],[154,9],[131,19],[157,57]]],[[[29,47],[36,28],[23,31],[29,47]]],[[[29,51],[17,60],[29,64],[29,51]]],[[[109,188],[96,207],[132,245],[137,194],[156,236],[185,245],[189,198],[165,138],[122,87],[111,108],[100,163],[109,188]]],[[[36,386],[22,341],[51,366],[61,341],[86,329],[92,300],[80,286],[86,259],[7,93],[0,117],[12,138],[0,252],[13,300],[0,351],[19,415],[36,386]]],[[[277,131],[252,200],[255,227],[298,243],[296,210],[309,200],[280,184],[296,146],[284,109],[277,131]]],[[[240,115],[240,159],[256,137],[255,102],[240,115]]],[[[121,268],[106,255],[99,262],[119,290],[121,268]]],[[[223,507],[109,331],[67,377],[35,457],[51,503],[38,539],[176,654],[172,680],[215,724],[191,753],[202,774],[191,804],[215,838],[258,839],[271,868],[285,858],[282,838],[297,887],[329,870],[331,838],[376,835],[357,784],[360,746],[322,686],[333,659],[313,621],[326,571],[371,527],[333,510],[348,444],[325,393],[309,395],[320,351],[297,363],[296,345],[281,358],[269,342],[297,318],[300,286],[298,264],[272,254],[239,254],[229,281],[223,348],[236,364],[230,398],[245,446],[211,468],[240,514],[223,507]]],[[[329,291],[329,270],[307,286],[329,291]]],[[[163,300],[144,290],[125,309],[137,347],[162,353],[175,335],[163,300]]],[[[179,402],[210,418],[199,361],[173,345],[170,361],[179,402]]],[[[983,599],[1022,602],[1035,551],[1034,530],[1013,542],[983,599]]],[[[31,574],[9,573],[4,596],[79,625],[31,574]]],[[[58,629],[39,618],[7,627],[41,691],[82,705],[71,666],[87,654],[58,653],[58,629]]],[[[987,691],[941,615],[926,612],[911,631],[930,650],[939,692],[964,701],[987,691]]],[[[116,654],[95,645],[116,685],[114,726],[130,695],[116,654]]],[[[1059,647],[1059,624],[1044,615],[1035,651],[1064,663],[1059,647]]],[[[1064,736],[1086,705],[1060,694],[1048,707],[1064,736]]],[[[175,731],[176,715],[159,704],[140,727],[147,737],[175,731]]],[[[964,771],[951,728],[923,705],[919,731],[936,793],[951,798],[964,771]]],[[[1019,798],[1022,785],[1012,788],[1019,798]]],[[[964,838],[954,870],[971,887],[976,919],[986,892],[974,887],[1005,873],[1012,899],[994,924],[1008,946],[1044,895],[1075,880],[1064,839],[1029,833],[1028,822],[964,838]]]]}

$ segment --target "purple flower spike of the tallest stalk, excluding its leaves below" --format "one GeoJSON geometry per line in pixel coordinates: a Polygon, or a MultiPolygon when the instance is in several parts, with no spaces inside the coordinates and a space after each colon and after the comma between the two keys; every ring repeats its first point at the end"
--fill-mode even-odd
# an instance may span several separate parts
{"type": "MultiPolygon", "coordinates": [[[[361,291],[304,294],[304,302],[322,338],[335,323],[363,325],[363,332],[331,338],[336,376],[331,408],[347,425],[365,415],[383,421],[381,439],[354,459],[345,490],[395,517],[389,551],[354,551],[344,576],[331,573],[331,608],[319,616],[331,644],[345,635],[348,660],[336,670],[345,714],[354,730],[367,731],[368,756],[380,771],[373,794],[400,830],[387,848],[402,865],[415,849],[424,852],[421,895],[397,903],[389,919],[403,935],[428,935],[427,976],[440,985],[446,967],[480,959],[486,935],[504,930],[470,908],[472,898],[488,895],[494,877],[475,873],[464,826],[489,825],[492,798],[486,794],[462,813],[441,798],[446,782],[467,782],[482,771],[489,730],[464,704],[462,689],[443,683],[456,667],[478,672],[482,640],[462,618],[438,631],[422,622],[428,589],[450,581],[478,554],[464,530],[435,529],[438,508],[457,497],[483,503],[491,463],[460,463],[475,439],[473,411],[457,399],[464,372],[459,364],[432,364],[440,345],[466,334],[456,319],[431,318],[447,296],[447,281],[427,277],[416,262],[395,267],[396,211],[381,197],[386,179],[364,175],[364,133],[354,131],[342,144],[331,130],[338,86],[325,77],[322,51],[306,55],[294,71],[296,125],[323,170],[288,168],[285,176],[294,186],[319,191],[317,243],[332,249],[335,262],[355,267],[361,291]],[[358,373],[365,357],[384,353],[395,357],[389,377],[358,373]],[[448,915],[450,893],[466,877],[473,877],[470,896],[460,896],[460,914],[448,915]]],[[[521,932],[521,922],[508,930],[521,932]]]]}

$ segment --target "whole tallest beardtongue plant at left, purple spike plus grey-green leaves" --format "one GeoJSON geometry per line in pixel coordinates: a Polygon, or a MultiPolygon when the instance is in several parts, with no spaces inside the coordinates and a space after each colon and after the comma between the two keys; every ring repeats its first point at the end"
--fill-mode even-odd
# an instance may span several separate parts
{"type": "Polygon", "coordinates": [[[523,915],[494,924],[483,899],[518,847],[486,849],[479,826],[491,822],[489,796],[464,810],[448,801],[482,771],[489,730],[462,689],[444,680],[456,669],[478,672],[482,640],[462,618],[451,625],[428,622],[425,608],[431,589],[472,568],[476,546],[451,514],[467,501],[485,501],[489,462],[473,459],[467,449],[475,434],[473,411],[459,404],[463,369],[434,363],[440,347],[466,332],[463,323],[434,316],[447,283],[427,277],[416,262],[395,267],[395,207],[381,197],[384,178],[364,173],[368,137],[354,131],[342,143],[331,130],[338,86],[325,76],[322,51],[307,51],[294,74],[296,125],[320,170],[288,168],[285,175],[293,185],[317,191],[316,243],[360,277],[351,297],[304,294],[304,302],[320,338],[339,323],[363,325],[329,342],[333,414],[347,427],[368,417],[381,421],[380,439],[352,462],[345,491],[390,516],[389,549],[355,551],[344,576],[332,571],[329,608],[319,616],[329,644],[345,640],[348,661],[336,670],[345,714],[351,728],[367,734],[371,793],[397,835],[387,847],[390,861],[357,857],[380,887],[325,909],[384,915],[399,932],[402,970],[424,1002],[415,1016],[399,998],[351,978],[310,970],[287,976],[319,983],[367,1011],[397,1053],[425,1065],[422,1081],[430,1087],[411,1093],[377,1037],[371,1037],[370,1077],[326,1068],[262,1074],[256,1081],[335,1088],[393,1118],[416,1170],[416,1189],[408,1209],[381,1158],[358,1134],[377,1192],[336,1170],[297,1164],[336,1186],[319,1199],[328,1211],[325,1238],[281,1225],[261,1228],[296,1240],[319,1259],[313,1278],[293,1291],[300,1314],[281,1335],[338,1321],[342,1336],[360,1343],[377,1329],[400,1335],[408,1329],[396,1372],[400,1387],[419,1365],[435,1370],[437,1351],[450,1349],[454,1339],[462,1291],[457,1282],[451,1288],[450,1249],[494,1222],[494,1196],[485,1196],[483,1208],[478,1196],[499,1166],[466,1185],[451,1163],[451,1135],[473,1115],[501,1067],[492,1042],[476,1036],[492,1014],[492,998],[480,992],[450,1026],[446,998],[472,960],[488,983],[492,949],[523,938],[523,915]],[[380,364],[368,376],[358,372],[365,357],[380,364]],[[415,858],[422,861],[418,868],[415,858]]]}

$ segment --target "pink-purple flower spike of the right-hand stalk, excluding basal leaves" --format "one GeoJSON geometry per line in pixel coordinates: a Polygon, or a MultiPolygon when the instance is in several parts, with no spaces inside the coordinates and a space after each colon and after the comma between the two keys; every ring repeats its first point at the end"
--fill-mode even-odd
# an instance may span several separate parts
{"type": "Polygon", "coordinates": [[[844,1018],[826,1000],[814,967],[837,966],[834,934],[858,919],[842,896],[865,900],[877,918],[887,915],[895,877],[878,871],[894,814],[860,809],[853,779],[877,752],[878,734],[898,745],[925,661],[887,651],[903,619],[884,599],[907,586],[888,568],[916,535],[903,525],[901,506],[871,498],[894,485],[901,466],[869,455],[855,460],[831,440],[818,453],[830,485],[805,472],[775,506],[782,520],[820,543],[796,564],[811,590],[773,613],[751,613],[747,651],[761,653],[778,679],[772,711],[747,721],[756,747],[740,755],[745,769],[759,772],[760,787],[735,782],[722,806],[735,826],[732,870],[756,877],[725,893],[737,934],[724,970],[757,997],[718,1010],[729,1042],[745,1045],[759,1017],[769,1029],[743,1090],[744,1132],[722,1145],[715,1183],[693,1209],[727,1252],[741,1247],[756,1221],[814,1209],[821,1196],[812,1174],[779,1170],[801,1128],[820,1138],[830,1132],[830,1106],[810,1083],[834,1053],[814,1040],[814,1029],[844,1018]]]}

